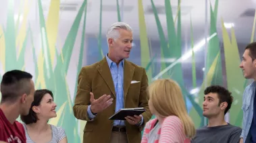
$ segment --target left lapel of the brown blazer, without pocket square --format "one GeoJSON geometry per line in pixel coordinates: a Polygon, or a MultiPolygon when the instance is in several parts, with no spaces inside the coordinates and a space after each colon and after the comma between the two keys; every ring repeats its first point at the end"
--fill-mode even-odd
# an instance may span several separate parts
{"type": "Polygon", "coordinates": [[[106,57],[99,62],[97,66],[97,70],[99,71],[99,74],[104,79],[105,83],[107,83],[107,86],[109,87],[110,91],[113,93],[113,95],[116,97],[116,91],[115,87],[113,87],[113,79],[110,73],[109,65],[107,64],[106,57]]]}

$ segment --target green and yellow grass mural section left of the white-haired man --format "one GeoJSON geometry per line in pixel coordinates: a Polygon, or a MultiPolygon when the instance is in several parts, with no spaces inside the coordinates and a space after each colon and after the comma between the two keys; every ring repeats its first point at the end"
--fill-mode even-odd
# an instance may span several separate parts
{"type": "MultiPolygon", "coordinates": [[[[68,142],[81,142],[81,136],[78,134],[78,120],[73,114],[74,99],[71,99],[70,89],[68,87],[66,75],[68,66],[73,52],[78,28],[82,23],[82,39],[80,44],[80,55],[76,73],[82,68],[83,50],[84,50],[84,34],[86,23],[86,0],[83,1],[80,9],[74,19],[70,32],[66,37],[65,43],[61,48],[61,53],[57,54],[55,44],[57,42],[57,31],[59,26],[59,0],[51,1],[49,14],[47,19],[43,15],[42,1],[38,1],[37,9],[39,9],[39,22],[41,34],[41,51],[36,57],[34,43],[32,43],[32,52],[34,57],[35,74],[34,83],[36,89],[53,89],[55,103],[57,103],[57,117],[49,121],[49,124],[61,126],[66,130],[68,142]],[[82,21],[83,19],[83,21],[82,21]],[[53,66],[56,57],[56,64],[53,66]],[[67,124],[68,123],[68,124],[67,124]]],[[[30,30],[29,21],[26,20],[30,5],[28,0],[25,1],[24,19],[21,23],[14,21],[14,0],[8,1],[7,27],[0,28],[0,53],[1,53],[1,69],[3,72],[7,70],[20,69],[24,70],[25,50],[28,38],[32,39],[32,30],[30,30]],[[20,25],[20,28],[18,28],[20,25]],[[16,58],[17,57],[17,58],[16,58]]],[[[20,17],[20,16],[19,16],[20,17]]],[[[1,75],[2,76],[2,75],[1,75]]],[[[76,86],[75,86],[76,88],[76,86]]],[[[74,89],[76,91],[76,89],[74,89]]]]}

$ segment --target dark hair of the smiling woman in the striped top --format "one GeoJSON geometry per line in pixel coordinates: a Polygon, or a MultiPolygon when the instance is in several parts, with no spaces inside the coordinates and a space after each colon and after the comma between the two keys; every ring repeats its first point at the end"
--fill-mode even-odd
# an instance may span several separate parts
{"type": "Polygon", "coordinates": [[[39,89],[34,92],[34,101],[31,104],[28,115],[20,115],[20,119],[22,120],[22,122],[24,122],[25,124],[32,124],[32,123],[36,123],[37,120],[39,120],[36,116],[36,113],[33,111],[32,107],[39,106],[43,97],[47,93],[49,93],[49,95],[53,97],[53,93],[48,89],[39,89]]]}

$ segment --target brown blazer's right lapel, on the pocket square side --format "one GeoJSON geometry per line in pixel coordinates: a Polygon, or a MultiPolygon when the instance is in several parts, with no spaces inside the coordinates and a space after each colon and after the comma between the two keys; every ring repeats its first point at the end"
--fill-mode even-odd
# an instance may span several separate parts
{"type": "Polygon", "coordinates": [[[128,89],[130,87],[130,82],[132,81],[134,73],[134,66],[124,60],[124,99],[128,93],[128,89]]]}

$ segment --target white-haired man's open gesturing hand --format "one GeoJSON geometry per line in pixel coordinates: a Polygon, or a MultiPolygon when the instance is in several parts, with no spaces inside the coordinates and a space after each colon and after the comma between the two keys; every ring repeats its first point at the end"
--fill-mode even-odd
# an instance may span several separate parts
{"type": "Polygon", "coordinates": [[[102,95],[99,99],[94,99],[93,93],[91,95],[91,111],[92,113],[99,113],[109,107],[113,103],[113,98],[110,95],[102,95]]]}

